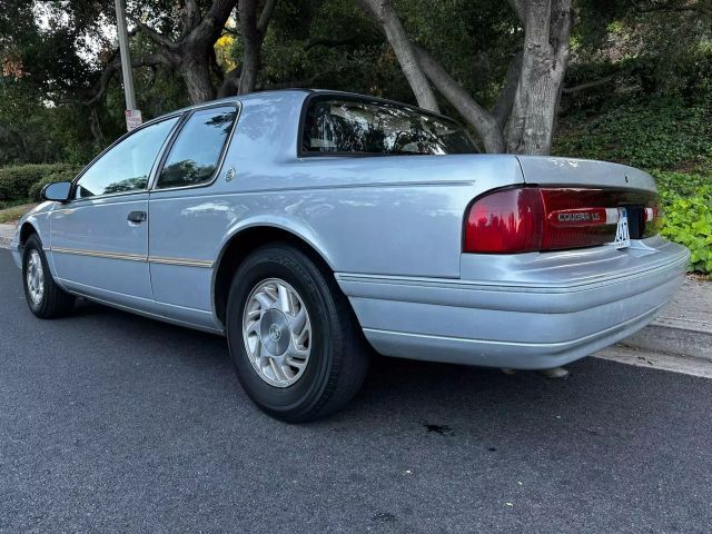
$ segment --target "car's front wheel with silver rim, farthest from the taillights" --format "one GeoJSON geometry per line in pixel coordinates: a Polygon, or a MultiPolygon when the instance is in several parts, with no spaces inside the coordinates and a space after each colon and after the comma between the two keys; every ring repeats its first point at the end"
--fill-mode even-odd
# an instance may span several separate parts
{"type": "Polygon", "coordinates": [[[66,293],[52,279],[42,243],[32,235],[24,244],[22,255],[24,298],[30,310],[42,319],[67,315],[75,306],[75,297],[66,293]]]}

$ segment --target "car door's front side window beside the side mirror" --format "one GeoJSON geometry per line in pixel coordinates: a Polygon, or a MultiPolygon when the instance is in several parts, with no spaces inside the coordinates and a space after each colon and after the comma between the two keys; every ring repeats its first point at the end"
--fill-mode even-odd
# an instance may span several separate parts
{"type": "Polygon", "coordinates": [[[178,122],[171,117],[147,126],[101,156],[79,178],[75,198],[146,189],[160,147],[178,122]]]}

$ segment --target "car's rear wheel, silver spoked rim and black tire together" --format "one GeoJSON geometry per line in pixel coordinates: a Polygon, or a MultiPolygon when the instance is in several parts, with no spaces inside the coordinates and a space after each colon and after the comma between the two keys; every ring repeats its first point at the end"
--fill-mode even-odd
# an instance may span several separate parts
{"type": "Polygon", "coordinates": [[[366,375],[368,350],[333,275],[291,245],[265,246],[245,259],[226,323],[243,387],[278,419],[334,413],[366,375]]]}

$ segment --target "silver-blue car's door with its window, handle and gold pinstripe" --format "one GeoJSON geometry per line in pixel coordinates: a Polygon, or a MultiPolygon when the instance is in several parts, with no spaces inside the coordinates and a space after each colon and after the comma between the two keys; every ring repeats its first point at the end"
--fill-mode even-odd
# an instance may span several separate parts
{"type": "Polygon", "coordinates": [[[72,198],[51,212],[59,281],[87,296],[149,310],[148,184],[179,116],[137,129],[77,179],[72,198]]]}

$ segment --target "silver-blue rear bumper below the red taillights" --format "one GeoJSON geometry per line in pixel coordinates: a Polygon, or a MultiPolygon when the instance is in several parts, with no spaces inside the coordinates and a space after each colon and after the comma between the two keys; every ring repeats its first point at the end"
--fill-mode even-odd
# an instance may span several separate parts
{"type": "Polygon", "coordinates": [[[689,253],[652,238],[624,251],[518,255],[508,265],[503,258],[468,255],[472,268],[464,265],[463,273],[483,274],[478,280],[337,279],[384,355],[537,369],[582,358],[644,327],[682,284],[689,253]]]}

